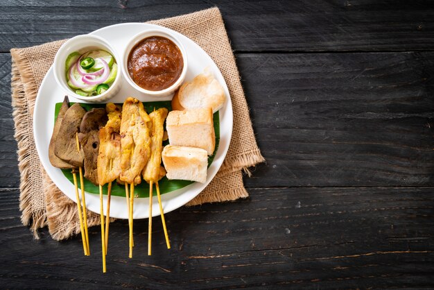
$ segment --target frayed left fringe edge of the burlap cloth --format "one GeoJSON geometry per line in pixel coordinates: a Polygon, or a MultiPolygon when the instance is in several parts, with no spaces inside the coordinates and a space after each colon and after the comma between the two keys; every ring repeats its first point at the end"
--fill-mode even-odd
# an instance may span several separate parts
{"type": "MultiPolygon", "coordinates": [[[[26,91],[34,91],[35,89],[31,87],[31,84],[22,81],[23,74],[28,76],[31,74],[30,67],[24,65],[21,58],[17,55],[18,51],[12,50],[12,79],[11,79],[11,89],[12,89],[12,117],[15,123],[15,139],[18,144],[18,169],[20,172],[20,202],[19,210],[21,210],[21,223],[24,225],[31,224],[31,231],[35,239],[39,239],[39,234],[37,233],[38,228],[42,228],[46,225],[46,211],[45,210],[33,210],[32,199],[32,184],[28,182],[28,178],[34,172],[31,172],[31,167],[29,163],[31,162],[31,142],[30,138],[33,135],[33,126],[28,118],[31,118],[29,113],[30,107],[26,99],[26,91]],[[22,66],[23,69],[19,71],[18,67],[22,66]],[[26,88],[27,86],[27,88],[26,88]],[[30,123],[30,124],[29,124],[30,123]],[[31,130],[32,132],[29,132],[31,130]]],[[[36,92],[35,92],[36,93],[36,92]]]]}

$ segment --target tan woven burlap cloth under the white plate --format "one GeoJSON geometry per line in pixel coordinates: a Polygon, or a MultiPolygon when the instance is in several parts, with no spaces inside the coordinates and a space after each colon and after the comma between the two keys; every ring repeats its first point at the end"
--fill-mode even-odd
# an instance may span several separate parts
{"type": "MultiPolygon", "coordinates": [[[[187,205],[247,197],[241,170],[248,171],[248,167],[264,159],[254,138],[248,105],[220,11],[211,8],[148,23],[171,28],[200,45],[225,77],[232,99],[234,130],[225,161],[205,190],[187,205]]],[[[60,40],[10,51],[12,107],[21,173],[21,221],[24,225],[31,225],[36,238],[37,228],[48,225],[51,236],[57,240],[67,239],[80,232],[77,207],[46,175],[37,155],[32,128],[37,91],[63,42],[60,40]]],[[[89,226],[99,224],[99,214],[88,212],[87,216],[89,226]]]]}

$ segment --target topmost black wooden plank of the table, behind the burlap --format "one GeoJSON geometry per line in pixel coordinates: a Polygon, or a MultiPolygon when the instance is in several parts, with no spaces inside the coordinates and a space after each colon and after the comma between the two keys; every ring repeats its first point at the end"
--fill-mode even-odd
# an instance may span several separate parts
{"type": "Polygon", "coordinates": [[[432,50],[431,1],[23,1],[0,3],[0,51],[217,6],[236,51],[432,50]]]}

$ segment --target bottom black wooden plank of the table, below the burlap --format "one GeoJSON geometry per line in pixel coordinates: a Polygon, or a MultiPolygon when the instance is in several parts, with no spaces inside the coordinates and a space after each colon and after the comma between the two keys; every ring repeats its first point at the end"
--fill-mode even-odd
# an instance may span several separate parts
{"type": "Polygon", "coordinates": [[[40,288],[365,288],[429,287],[434,271],[432,188],[250,189],[245,201],[181,208],[166,214],[173,248],[159,219],[153,255],[147,221],[112,223],[106,275],[99,228],[92,255],[74,237],[33,241],[20,225],[18,192],[0,190],[0,285],[40,288]],[[47,255],[47,252],[50,255],[47,255]]]}

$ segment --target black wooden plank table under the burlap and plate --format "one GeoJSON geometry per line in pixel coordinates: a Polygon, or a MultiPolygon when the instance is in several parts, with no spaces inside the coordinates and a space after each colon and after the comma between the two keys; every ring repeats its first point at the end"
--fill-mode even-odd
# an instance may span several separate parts
{"type": "Polygon", "coordinates": [[[434,287],[434,4],[430,1],[0,1],[0,288],[434,287]],[[266,157],[250,198],[34,240],[21,225],[12,47],[220,8],[266,157]],[[134,223],[146,241],[147,220],[134,223]]]}

